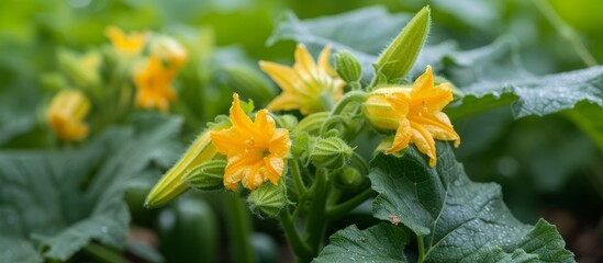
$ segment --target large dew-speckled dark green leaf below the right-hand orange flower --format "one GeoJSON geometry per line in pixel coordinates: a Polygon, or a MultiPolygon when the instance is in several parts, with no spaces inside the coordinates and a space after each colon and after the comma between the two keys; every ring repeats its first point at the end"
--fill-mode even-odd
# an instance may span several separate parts
{"type": "Polygon", "coordinates": [[[409,147],[403,158],[376,157],[369,174],[379,193],[375,216],[397,218],[421,236],[425,262],[479,262],[496,250],[502,250],[499,255],[520,256],[513,254],[523,250],[543,261],[573,262],[554,226],[544,220],[535,227],[520,222],[503,203],[498,184],[470,181],[450,146],[437,142],[437,149],[435,169],[409,147]]]}

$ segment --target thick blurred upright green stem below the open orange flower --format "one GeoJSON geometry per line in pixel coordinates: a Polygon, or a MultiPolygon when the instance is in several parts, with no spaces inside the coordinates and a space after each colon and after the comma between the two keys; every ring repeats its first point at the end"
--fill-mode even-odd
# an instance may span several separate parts
{"type": "Polygon", "coordinates": [[[231,254],[234,255],[234,262],[254,262],[255,256],[250,238],[252,224],[245,204],[234,194],[224,197],[228,236],[233,244],[231,254]]]}

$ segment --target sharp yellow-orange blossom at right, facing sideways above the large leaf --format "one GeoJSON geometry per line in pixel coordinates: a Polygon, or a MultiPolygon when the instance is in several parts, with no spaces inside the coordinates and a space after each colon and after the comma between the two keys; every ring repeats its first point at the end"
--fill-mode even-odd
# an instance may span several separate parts
{"type": "Polygon", "coordinates": [[[365,102],[365,115],[378,129],[395,129],[393,144],[387,155],[400,151],[414,144],[429,157],[429,167],[435,167],[437,157],[434,139],[455,140],[460,137],[453,128],[448,116],[442,112],[450,101],[453,92],[449,83],[434,87],[434,75],[427,66],[412,88],[383,87],[375,90],[365,102]]]}

